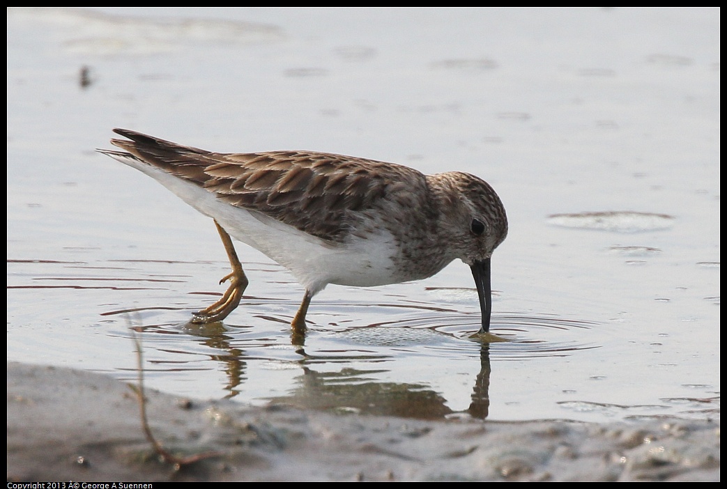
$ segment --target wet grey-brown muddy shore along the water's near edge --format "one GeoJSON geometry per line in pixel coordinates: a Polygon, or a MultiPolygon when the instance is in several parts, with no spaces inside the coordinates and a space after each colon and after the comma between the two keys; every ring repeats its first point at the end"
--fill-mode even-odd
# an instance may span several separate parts
{"type": "Polygon", "coordinates": [[[417,421],[147,392],[167,450],[217,456],[175,468],[108,376],[7,365],[8,481],[720,480],[719,421],[417,421]]]}

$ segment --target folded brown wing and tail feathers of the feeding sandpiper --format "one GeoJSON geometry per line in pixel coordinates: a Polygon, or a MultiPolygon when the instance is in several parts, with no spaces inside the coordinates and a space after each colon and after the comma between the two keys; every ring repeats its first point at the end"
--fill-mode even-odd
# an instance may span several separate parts
{"type": "Polygon", "coordinates": [[[126,129],[112,140],[132,155],[188,179],[233,206],[254,209],[311,235],[342,241],[356,213],[379,205],[397,182],[425,176],[406,166],[305,151],[211,153],[126,129]]]}

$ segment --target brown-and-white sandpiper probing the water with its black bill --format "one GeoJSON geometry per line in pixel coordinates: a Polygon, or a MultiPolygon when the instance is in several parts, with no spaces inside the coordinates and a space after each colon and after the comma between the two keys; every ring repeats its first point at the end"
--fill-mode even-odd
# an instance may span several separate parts
{"type": "Polygon", "coordinates": [[[332,153],[212,153],[127,129],[118,150],[98,150],[164,185],[212,217],[232,272],[220,300],[195,323],[221,321],[248,279],[230,235],[286,267],[305,288],[294,331],[305,331],[310,299],[329,283],[381,286],[431,277],[454,259],[470,266],[482,326],[491,315],[490,258],[507,217],[487,182],[461,171],[425,175],[395,163],[332,153]]]}

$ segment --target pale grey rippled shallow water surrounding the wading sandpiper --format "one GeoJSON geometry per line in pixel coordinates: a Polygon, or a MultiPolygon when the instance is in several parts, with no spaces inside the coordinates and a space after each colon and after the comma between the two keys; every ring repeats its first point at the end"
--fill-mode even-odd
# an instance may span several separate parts
{"type": "Polygon", "coordinates": [[[8,360],[134,379],[132,327],[150,387],[183,396],[434,419],[718,417],[716,12],[10,9],[8,360]],[[470,339],[478,301],[457,262],[329,286],[294,346],[302,288],[241,244],[241,307],[190,325],[224,290],[224,250],[209,219],[93,152],[115,126],[478,174],[510,219],[492,318],[508,341],[470,339]]]}

